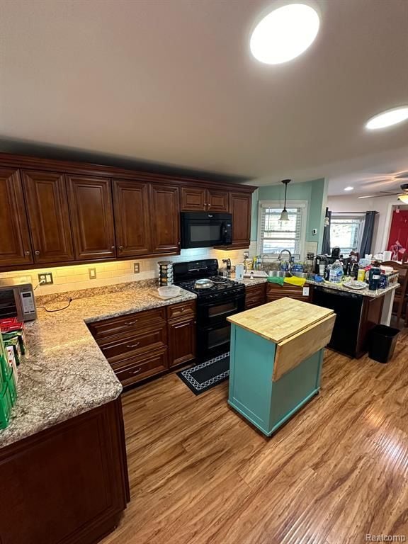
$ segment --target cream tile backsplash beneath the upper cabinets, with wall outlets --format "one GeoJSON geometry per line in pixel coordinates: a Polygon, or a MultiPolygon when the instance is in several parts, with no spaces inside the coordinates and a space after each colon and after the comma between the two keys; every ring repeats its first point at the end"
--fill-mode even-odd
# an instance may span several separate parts
{"type": "Polygon", "coordinates": [[[2,278],[15,278],[18,283],[33,283],[38,285],[38,274],[52,273],[54,283],[52,285],[38,285],[35,295],[51,295],[52,293],[64,293],[80,289],[104,287],[115,283],[128,281],[147,280],[159,276],[158,261],[193,261],[194,259],[231,259],[232,264],[242,262],[244,250],[220,251],[213,248],[181,249],[181,254],[170,257],[157,257],[156,259],[133,259],[130,261],[115,261],[105,263],[76,264],[74,266],[46,266],[33,270],[2,272],[2,278]],[[140,272],[134,273],[134,263],[139,263],[140,272]],[[96,269],[96,278],[89,278],[89,268],[96,269]]]}

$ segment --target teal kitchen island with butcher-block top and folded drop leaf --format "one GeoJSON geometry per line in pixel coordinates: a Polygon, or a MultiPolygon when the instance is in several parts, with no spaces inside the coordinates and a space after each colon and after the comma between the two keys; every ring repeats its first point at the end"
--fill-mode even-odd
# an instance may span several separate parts
{"type": "Polygon", "coordinates": [[[284,297],[228,320],[228,403],[271,436],[319,392],[334,312],[284,297]]]}

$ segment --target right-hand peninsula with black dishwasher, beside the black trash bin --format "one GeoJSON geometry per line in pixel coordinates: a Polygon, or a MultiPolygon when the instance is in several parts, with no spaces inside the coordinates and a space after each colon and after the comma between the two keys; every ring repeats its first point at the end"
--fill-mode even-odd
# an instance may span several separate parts
{"type": "Polygon", "coordinates": [[[354,358],[368,351],[368,335],[377,324],[390,325],[392,303],[398,283],[385,289],[352,290],[341,283],[311,280],[310,302],[334,310],[336,323],[329,348],[354,358]]]}

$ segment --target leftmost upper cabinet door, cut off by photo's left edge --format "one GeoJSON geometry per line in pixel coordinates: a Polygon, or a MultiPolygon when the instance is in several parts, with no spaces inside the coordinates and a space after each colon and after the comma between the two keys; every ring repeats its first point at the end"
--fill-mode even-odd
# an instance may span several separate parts
{"type": "Polygon", "coordinates": [[[23,188],[18,171],[0,169],[0,266],[32,264],[23,188]]]}

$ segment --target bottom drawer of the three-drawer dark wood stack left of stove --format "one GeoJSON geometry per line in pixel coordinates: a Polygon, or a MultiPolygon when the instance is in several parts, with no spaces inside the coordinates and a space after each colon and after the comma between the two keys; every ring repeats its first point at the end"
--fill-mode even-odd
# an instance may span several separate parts
{"type": "Polygon", "coordinates": [[[122,385],[131,385],[163,372],[167,366],[167,350],[164,348],[148,355],[127,358],[122,363],[113,364],[112,368],[122,385]]]}

